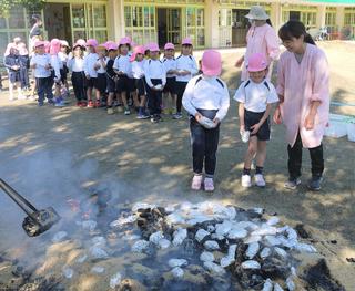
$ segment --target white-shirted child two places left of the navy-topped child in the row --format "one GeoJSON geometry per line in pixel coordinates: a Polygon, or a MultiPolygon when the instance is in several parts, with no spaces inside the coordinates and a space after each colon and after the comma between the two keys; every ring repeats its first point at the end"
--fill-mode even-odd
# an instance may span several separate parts
{"type": "Polygon", "coordinates": [[[88,107],[100,107],[100,92],[98,91],[98,72],[94,69],[98,61],[98,54],[95,48],[98,46],[98,41],[94,39],[89,39],[87,41],[87,52],[84,56],[84,73],[87,77],[87,98],[88,107]],[[92,92],[95,94],[95,102],[92,101],[92,92]]]}

